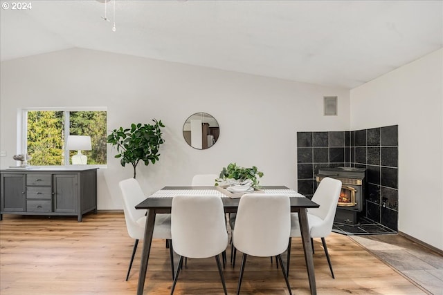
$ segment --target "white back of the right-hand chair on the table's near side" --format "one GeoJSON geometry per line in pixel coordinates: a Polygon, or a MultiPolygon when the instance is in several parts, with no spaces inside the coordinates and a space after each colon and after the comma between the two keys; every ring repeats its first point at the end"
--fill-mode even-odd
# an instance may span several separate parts
{"type": "Polygon", "coordinates": [[[291,203],[284,195],[246,193],[239,201],[234,246],[252,256],[276,256],[286,251],[291,231],[291,203]]]}

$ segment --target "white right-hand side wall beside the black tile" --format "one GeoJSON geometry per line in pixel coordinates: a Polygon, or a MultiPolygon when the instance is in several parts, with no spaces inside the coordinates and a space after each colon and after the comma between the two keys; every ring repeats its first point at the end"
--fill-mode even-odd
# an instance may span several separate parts
{"type": "Polygon", "coordinates": [[[399,231],[443,249],[443,49],[352,89],[351,129],[399,125],[399,231]]]}

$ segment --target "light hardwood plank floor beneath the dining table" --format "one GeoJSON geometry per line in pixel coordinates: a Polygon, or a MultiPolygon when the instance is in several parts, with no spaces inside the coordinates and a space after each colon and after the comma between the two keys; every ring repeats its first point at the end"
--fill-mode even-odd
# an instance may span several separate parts
{"type": "MultiPolygon", "coordinates": [[[[348,236],[327,239],[336,278],[332,279],[320,240],[314,240],[318,294],[426,294],[348,236]]],[[[0,293],[136,294],[139,249],[125,281],[134,240],[123,213],[75,218],[3,215],[0,221],[0,293]]],[[[241,254],[224,269],[229,294],[235,294],[241,254]]],[[[147,269],[145,294],[169,294],[172,274],[168,249],[156,240],[147,269]]],[[[176,258],[177,265],[177,258],[176,258]]],[[[310,294],[300,240],[293,239],[289,281],[293,294],[310,294]]],[[[223,294],[213,258],[188,260],[174,294],[223,294]]],[[[288,294],[280,269],[269,258],[248,258],[241,294],[288,294]]]]}

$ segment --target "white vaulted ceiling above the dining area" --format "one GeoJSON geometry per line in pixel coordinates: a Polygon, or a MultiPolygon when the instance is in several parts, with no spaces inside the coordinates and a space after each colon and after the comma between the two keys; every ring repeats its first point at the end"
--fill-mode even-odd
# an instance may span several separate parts
{"type": "Polygon", "coordinates": [[[443,47],[443,1],[24,2],[1,1],[1,61],[89,48],[354,88],[443,47]]]}

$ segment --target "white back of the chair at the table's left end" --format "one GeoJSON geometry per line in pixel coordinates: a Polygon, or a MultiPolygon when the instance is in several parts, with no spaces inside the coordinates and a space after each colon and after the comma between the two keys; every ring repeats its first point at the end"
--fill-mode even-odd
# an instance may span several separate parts
{"type": "Polygon", "coordinates": [[[125,212],[125,221],[127,232],[131,238],[143,238],[144,225],[141,227],[137,220],[145,216],[145,210],[137,210],[135,206],[145,200],[140,184],[135,178],[122,180],[118,183],[123,197],[123,211],[125,212]]]}

